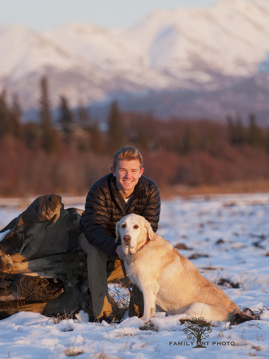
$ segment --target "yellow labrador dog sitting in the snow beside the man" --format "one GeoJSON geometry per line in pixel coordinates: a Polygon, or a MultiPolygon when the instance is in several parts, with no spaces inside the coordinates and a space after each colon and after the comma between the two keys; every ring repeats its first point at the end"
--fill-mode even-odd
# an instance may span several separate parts
{"type": "Polygon", "coordinates": [[[126,254],[127,274],[143,293],[145,322],[154,317],[156,305],[169,314],[234,320],[239,310],[236,304],[169,242],[154,233],[145,218],[137,214],[123,217],[116,225],[116,235],[126,254]]]}

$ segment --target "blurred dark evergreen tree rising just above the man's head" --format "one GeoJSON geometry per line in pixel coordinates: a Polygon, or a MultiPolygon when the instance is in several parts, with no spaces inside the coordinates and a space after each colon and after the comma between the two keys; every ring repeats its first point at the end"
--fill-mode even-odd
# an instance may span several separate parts
{"type": "Polygon", "coordinates": [[[122,148],[124,131],[121,113],[119,112],[117,101],[112,102],[110,106],[108,126],[108,135],[113,144],[113,150],[122,148]]]}

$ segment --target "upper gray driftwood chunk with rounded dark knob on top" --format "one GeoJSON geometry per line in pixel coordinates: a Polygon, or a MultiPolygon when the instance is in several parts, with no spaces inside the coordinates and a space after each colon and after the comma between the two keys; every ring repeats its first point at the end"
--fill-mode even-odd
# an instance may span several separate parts
{"type": "Polygon", "coordinates": [[[65,210],[58,195],[38,197],[16,218],[15,225],[13,220],[2,229],[10,232],[1,241],[0,255],[22,253],[24,258],[38,258],[67,253],[72,244],[68,239],[75,237],[81,213],[76,208],[65,210]]]}

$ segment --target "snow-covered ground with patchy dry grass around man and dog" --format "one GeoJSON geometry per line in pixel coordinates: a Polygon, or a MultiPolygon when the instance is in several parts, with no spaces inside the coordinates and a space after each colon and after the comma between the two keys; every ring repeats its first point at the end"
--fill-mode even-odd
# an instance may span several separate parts
{"type": "MultiPolygon", "coordinates": [[[[84,208],[83,204],[74,204],[84,208]]],[[[67,206],[66,206],[67,207],[67,206]]],[[[1,207],[0,228],[24,208],[1,207]]],[[[54,324],[52,318],[20,312],[0,321],[0,358],[269,358],[269,194],[225,195],[162,201],[158,233],[196,259],[191,261],[237,305],[261,312],[260,320],[212,327],[206,348],[193,348],[183,315],[157,313],[158,331],[141,331],[142,320],[89,323],[86,315],[54,324]],[[267,254],[267,255],[266,255],[267,254]]]]}

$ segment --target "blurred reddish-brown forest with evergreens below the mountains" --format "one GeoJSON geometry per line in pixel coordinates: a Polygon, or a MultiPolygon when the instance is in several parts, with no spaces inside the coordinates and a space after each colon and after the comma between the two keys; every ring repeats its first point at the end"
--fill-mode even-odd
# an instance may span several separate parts
{"type": "MultiPolygon", "coordinates": [[[[40,84],[39,118],[22,123],[19,99],[0,95],[0,196],[49,193],[86,195],[110,172],[114,152],[126,145],[139,149],[145,176],[160,188],[219,185],[269,178],[269,130],[256,125],[255,114],[243,125],[240,116],[227,122],[158,120],[121,112],[112,102],[107,130],[80,106],[71,111],[60,97],[60,115],[52,122],[48,83],[40,84]]],[[[179,114],[180,115],[180,114],[179,114]]]]}

